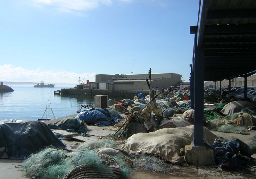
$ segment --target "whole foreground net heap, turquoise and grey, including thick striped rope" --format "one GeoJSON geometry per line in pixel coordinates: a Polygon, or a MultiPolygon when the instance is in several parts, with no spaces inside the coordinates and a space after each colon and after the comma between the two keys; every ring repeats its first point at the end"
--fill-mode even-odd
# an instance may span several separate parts
{"type": "Polygon", "coordinates": [[[113,140],[80,144],[77,151],[66,152],[53,147],[28,156],[22,170],[25,176],[47,179],[127,178],[132,169],[167,172],[168,163],[156,155],[129,152],[118,148],[113,140]],[[114,148],[115,147],[115,148],[114,148]],[[118,152],[108,152],[112,151],[118,152]]]}

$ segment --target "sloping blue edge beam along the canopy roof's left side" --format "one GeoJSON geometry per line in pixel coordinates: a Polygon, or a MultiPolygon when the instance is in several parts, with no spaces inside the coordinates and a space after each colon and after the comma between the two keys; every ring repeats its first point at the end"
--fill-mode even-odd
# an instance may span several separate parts
{"type": "Polygon", "coordinates": [[[200,8],[198,14],[198,29],[197,29],[197,47],[200,47],[204,37],[204,30],[206,25],[207,12],[212,0],[200,0],[200,8]]]}

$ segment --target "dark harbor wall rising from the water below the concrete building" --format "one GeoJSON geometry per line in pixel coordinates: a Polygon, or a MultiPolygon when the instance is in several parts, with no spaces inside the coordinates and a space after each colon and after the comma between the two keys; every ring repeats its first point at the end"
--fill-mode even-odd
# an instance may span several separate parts
{"type": "MultiPolygon", "coordinates": [[[[95,96],[95,95],[109,95],[109,96],[115,96],[115,97],[134,97],[135,94],[138,96],[137,90],[117,90],[117,89],[76,89],[76,88],[62,88],[61,94],[63,95],[84,95],[86,93],[87,96],[95,96]]],[[[148,91],[140,91],[143,96],[149,95],[148,91]]]]}

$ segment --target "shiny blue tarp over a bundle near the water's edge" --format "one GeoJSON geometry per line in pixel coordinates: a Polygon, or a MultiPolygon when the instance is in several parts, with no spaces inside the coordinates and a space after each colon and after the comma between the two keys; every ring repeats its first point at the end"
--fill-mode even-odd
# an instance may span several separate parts
{"type": "Polygon", "coordinates": [[[91,126],[109,126],[118,123],[119,118],[113,116],[107,109],[96,108],[80,112],[76,118],[79,118],[91,126]]]}

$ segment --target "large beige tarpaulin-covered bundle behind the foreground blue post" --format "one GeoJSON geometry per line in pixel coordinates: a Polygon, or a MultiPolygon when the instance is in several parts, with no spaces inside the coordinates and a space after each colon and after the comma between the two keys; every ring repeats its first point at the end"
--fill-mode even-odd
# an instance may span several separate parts
{"type": "MultiPolygon", "coordinates": [[[[159,155],[170,162],[184,162],[180,148],[190,145],[194,138],[194,125],[170,129],[159,129],[150,133],[137,133],[124,144],[125,150],[159,155]]],[[[204,127],[204,138],[213,144],[216,136],[204,127]]]]}

